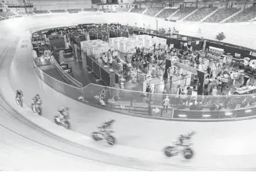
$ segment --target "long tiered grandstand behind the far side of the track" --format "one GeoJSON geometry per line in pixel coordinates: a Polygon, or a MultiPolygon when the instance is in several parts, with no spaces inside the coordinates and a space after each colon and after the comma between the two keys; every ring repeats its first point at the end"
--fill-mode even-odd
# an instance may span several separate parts
{"type": "MultiPolygon", "coordinates": [[[[15,9],[11,8],[8,12],[1,11],[1,18],[11,18],[16,14],[49,14],[49,13],[79,13],[80,11],[104,11],[104,12],[131,12],[137,14],[143,14],[147,16],[156,16],[160,19],[171,20],[184,20],[184,21],[203,21],[208,23],[219,22],[246,22],[256,20],[256,7],[253,7],[252,2],[239,1],[236,3],[227,4],[224,1],[215,2],[207,1],[205,3],[183,3],[181,1],[172,1],[170,4],[167,1],[123,1],[120,4],[92,4],[92,1],[84,0],[30,0],[28,4],[33,4],[33,8],[25,11],[24,7],[15,9]],[[111,6],[111,7],[109,7],[111,6]],[[165,6],[165,7],[164,7],[165,6]],[[167,7],[172,6],[172,7],[167,7]],[[199,6],[199,7],[196,7],[199,6]],[[241,10],[247,6],[246,9],[241,10]]],[[[16,2],[15,2],[16,3],[16,2]]],[[[17,1],[18,3],[18,1],[17,1]]],[[[106,3],[104,1],[104,3],[106,3]]],[[[22,2],[19,1],[19,5],[22,2]]]]}

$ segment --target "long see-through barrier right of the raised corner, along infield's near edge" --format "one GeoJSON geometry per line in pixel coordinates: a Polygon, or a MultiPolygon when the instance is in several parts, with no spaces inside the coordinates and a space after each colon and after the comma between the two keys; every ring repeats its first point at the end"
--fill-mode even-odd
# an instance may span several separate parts
{"type": "Polygon", "coordinates": [[[180,120],[223,121],[254,118],[255,94],[241,96],[187,96],[162,93],[142,93],[89,84],[84,88],[84,100],[111,111],[180,120]],[[169,106],[164,107],[164,98],[169,106]]]}

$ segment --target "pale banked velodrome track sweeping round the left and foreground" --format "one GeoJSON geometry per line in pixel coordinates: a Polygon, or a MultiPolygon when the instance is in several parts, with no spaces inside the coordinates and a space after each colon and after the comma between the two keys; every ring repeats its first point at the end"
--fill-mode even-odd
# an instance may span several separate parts
{"type": "MultiPolygon", "coordinates": [[[[92,18],[88,18],[87,22],[90,23],[90,19],[93,23],[92,18]]],[[[60,21],[56,17],[51,21],[50,16],[1,22],[0,88],[4,98],[1,98],[0,112],[0,148],[4,155],[1,156],[2,169],[256,169],[255,120],[217,123],[158,121],[124,116],[84,105],[42,83],[36,76],[31,61],[30,29],[72,25],[75,22],[60,21]],[[21,48],[22,45],[27,47],[21,48]],[[43,100],[43,116],[46,118],[36,116],[28,106],[23,109],[16,106],[14,90],[17,88],[24,91],[26,105],[31,103],[34,94],[40,94],[43,100]],[[70,108],[72,130],[77,133],[66,131],[52,123],[56,108],[65,105],[70,108]],[[117,121],[114,124],[117,146],[109,147],[104,143],[91,141],[87,136],[100,123],[110,118],[117,121]],[[192,161],[184,161],[179,156],[164,158],[162,148],[172,144],[172,139],[179,134],[191,130],[197,131],[192,139],[195,143],[195,158],[192,161]],[[21,161],[22,158],[24,161],[21,161]]]]}

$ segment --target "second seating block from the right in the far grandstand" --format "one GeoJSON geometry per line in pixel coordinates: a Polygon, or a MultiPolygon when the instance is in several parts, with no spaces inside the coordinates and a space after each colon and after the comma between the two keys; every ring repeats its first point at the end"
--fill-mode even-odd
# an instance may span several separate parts
{"type": "Polygon", "coordinates": [[[239,10],[240,9],[235,8],[219,9],[215,12],[215,14],[212,14],[212,16],[209,16],[207,19],[205,19],[204,22],[219,23],[220,21],[227,19],[227,17],[237,13],[239,10]]]}

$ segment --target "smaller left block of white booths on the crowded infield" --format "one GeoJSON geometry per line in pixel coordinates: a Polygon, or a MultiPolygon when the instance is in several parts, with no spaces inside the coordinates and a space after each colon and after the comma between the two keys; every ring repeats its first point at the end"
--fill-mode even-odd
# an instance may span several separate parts
{"type": "Polygon", "coordinates": [[[81,49],[88,56],[94,56],[95,58],[99,58],[102,53],[109,51],[109,43],[102,41],[100,39],[82,41],[81,49]]]}

